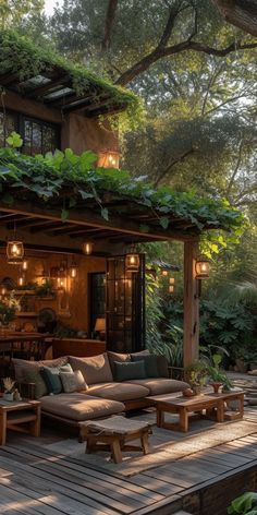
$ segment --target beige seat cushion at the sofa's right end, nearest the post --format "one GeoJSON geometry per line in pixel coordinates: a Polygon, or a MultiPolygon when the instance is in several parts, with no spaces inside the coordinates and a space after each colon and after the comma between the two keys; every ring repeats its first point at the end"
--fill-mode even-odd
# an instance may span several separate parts
{"type": "Polygon", "coordinates": [[[162,395],[172,394],[174,392],[183,392],[183,390],[189,388],[187,383],[184,381],[176,381],[174,379],[166,378],[149,378],[149,379],[134,379],[130,381],[131,384],[139,384],[149,390],[150,395],[162,395]]]}

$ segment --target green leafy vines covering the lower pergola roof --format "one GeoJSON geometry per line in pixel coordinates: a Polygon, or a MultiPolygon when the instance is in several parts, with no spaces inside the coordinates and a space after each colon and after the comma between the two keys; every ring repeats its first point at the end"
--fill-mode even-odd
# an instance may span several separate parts
{"type": "MultiPolygon", "coordinates": [[[[77,156],[66,148],[30,157],[15,148],[22,144],[19,134],[12,133],[8,142],[13,148],[0,149],[0,197],[4,203],[38,197],[62,209],[64,220],[78,204],[86,208],[94,202],[94,208],[108,220],[110,213],[105,200],[118,195],[145,211],[150,209],[163,229],[176,217],[187,220],[198,233],[213,228],[237,233],[241,230],[242,214],[222,199],[201,197],[195,191],[179,192],[170,187],[155,189],[145,176],[132,179],[125,170],[98,168],[97,156],[89,151],[77,156]]],[[[122,213],[122,207],[119,209],[120,215],[127,213],[122,213]]]]}

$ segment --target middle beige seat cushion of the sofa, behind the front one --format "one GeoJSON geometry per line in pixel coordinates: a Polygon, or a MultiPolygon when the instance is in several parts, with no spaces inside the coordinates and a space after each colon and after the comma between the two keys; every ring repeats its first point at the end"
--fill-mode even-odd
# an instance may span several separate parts
{"type": "Polygon", "coordinates": [[[149,395],[149,390],[140,384],[128,383],[102,383],[91,384],[87,390],[89,395],[110,398],[114,400],[134,400],[149,395]]]}

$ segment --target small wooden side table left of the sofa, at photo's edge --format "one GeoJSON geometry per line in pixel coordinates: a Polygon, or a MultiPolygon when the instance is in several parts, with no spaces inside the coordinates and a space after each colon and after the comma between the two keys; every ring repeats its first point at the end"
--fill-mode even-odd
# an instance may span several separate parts
{"type": "Polygon", "coordinates": [[[0,445],[7,443],[7,430],[28,432],[40,435],[39,400],[19,400],[9,403],[0,398],[0,445]],[[26,424],[26,427],[24,427],[26,424]]]}

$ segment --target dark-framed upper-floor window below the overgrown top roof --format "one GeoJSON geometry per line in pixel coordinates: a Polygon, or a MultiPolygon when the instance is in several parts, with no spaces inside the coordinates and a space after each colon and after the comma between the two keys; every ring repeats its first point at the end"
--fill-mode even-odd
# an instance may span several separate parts
{"type": "Polygon", "coordinates": [[[21,113],[0,111],[0,146],[5,146],[12,131],[23,137],[22,152],[29,156],[54,152],[60,145],[59,127],[21,113]]]}

